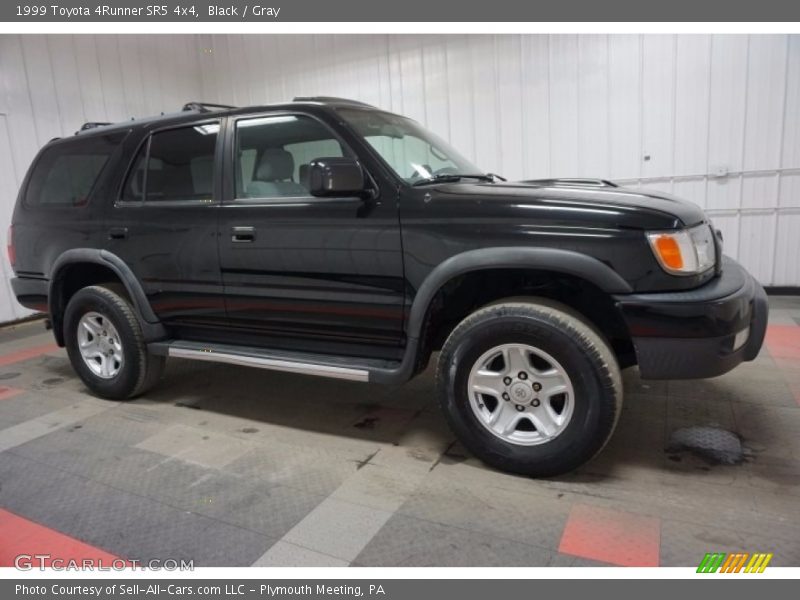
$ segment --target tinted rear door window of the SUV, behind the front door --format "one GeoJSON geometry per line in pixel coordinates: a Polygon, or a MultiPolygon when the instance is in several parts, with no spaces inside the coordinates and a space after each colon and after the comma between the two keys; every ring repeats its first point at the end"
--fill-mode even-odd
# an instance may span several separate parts
{"type": "Polygon", "coordinates": [[[154,133],[133,163],[122,200],[208,201],[214,196],[214,152],[219,123],[154,133]]]}

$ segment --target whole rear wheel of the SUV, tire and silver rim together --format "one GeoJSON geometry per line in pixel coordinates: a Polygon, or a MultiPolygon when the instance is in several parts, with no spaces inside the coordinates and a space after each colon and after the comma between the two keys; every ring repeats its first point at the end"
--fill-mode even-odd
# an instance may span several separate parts
{"type": "Polygon", "coordinates": [[[72,296],[64,313],[64,341],[75,372],[103,398],[135,398],[164,371],[165,358],[147,351],[130,302],[103,286],[72,296]]]}

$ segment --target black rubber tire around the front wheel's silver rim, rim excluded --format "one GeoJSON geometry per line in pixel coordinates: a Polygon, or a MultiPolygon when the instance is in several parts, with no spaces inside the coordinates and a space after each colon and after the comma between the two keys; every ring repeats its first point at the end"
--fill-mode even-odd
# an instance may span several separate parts
{"type": "Polygon", "coordinates": [[[622,408],[622,377],[603,337],[566,306],[510,301],[464,319],[442,348],[436,373],[442,409],[458,439],[498,469],[532,477],[567,473],[608,442],[622,408]],[[470,406],[468,380],[485,352],[502,344],[526,344],[555,358],[574,390],[572,416],[550,441],[519,445],[496,436],[470,406]]]}

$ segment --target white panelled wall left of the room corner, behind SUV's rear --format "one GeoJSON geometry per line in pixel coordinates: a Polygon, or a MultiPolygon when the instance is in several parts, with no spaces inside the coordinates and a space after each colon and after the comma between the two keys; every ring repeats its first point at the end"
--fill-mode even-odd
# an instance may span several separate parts
{"type": "Polygon", "coordinates": [[[201,93],[194,36],[0,35],[0,322],[30,311],[8,284],[11,213],[35,153],[86,121],[179,110],[201,93]]]}

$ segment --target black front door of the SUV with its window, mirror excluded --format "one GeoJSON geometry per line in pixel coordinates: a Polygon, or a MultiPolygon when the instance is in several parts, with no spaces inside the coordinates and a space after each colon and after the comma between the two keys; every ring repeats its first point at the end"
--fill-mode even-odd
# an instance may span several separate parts
{"type": "Polygon", "coordinates": [[[227,146],[233,175],[219,250],[232,335],[273,348],[399,357],[396,197],[311,196],[309,163],[352,152],[310,115],[232,120],[227,146]]]}

